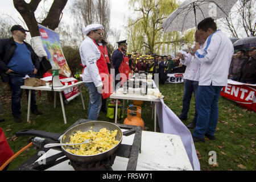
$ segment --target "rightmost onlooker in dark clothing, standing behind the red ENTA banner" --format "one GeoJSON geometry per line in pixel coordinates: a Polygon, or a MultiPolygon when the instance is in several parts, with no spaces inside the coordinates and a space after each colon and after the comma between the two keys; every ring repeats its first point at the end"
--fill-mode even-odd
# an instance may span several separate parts
{"type": "Polygon", "coordinates": [[[256,47],[251,47],[248,51],[249,59],[242,67],[241,82],[246,84],[256,84],[256,47]]]}

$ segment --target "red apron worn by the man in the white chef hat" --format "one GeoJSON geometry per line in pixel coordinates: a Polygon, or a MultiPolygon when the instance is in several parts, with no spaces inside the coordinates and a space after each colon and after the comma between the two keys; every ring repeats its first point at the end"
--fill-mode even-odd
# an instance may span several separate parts
{"type": "MultiPolygon", "coordinates": [[[[98,47],[95,40],[93,40],[93,42],[98,47]]],[[[114,92],[114,90],[113,90],[113,87],[111,84],[112,78],[110,77],[110,74],[109,74],[109,69],[108,69],[108,65],[106,64],[105,56],[102,53],[100,47],[98,47],[98,49],[101,52],[101,57],[100,57],[100,59],[97,60],[96,65],[98,67],[98,72],[100,73],[101,81],[103,84],[102,97],[103,97],[103,99],[105,99],[105,98],[109,98],[110,95],[114,92]]],[[[82,73],[84,73],[85,68],[86,68],[86,65],[82,69],[82,73]]]]}

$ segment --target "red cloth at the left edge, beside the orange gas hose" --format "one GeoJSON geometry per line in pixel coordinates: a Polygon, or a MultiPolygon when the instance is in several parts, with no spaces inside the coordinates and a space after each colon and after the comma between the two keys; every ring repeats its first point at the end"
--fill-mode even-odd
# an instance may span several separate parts
{"type": "Polygon", "coordinates": [[[3,130],[0,127],[0,166],[3,165],[11,156],[14,155],[14,152],[11,150],[3,130]]]}

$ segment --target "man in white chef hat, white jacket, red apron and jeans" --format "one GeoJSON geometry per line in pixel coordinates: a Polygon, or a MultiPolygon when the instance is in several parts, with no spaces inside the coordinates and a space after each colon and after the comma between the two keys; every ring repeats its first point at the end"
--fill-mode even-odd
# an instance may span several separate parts
{"type": "Polygon", "coordinates": [[[84,28],[86,38],[79,48],[82,70],[82,81],[89,91],[88,119],[97,120],[101,110],[102,98],[108,98],[113,89],[110,85],[110,74],[105,54],[99,44],[104,36],[101,24],[89,24],[84,28]]]}

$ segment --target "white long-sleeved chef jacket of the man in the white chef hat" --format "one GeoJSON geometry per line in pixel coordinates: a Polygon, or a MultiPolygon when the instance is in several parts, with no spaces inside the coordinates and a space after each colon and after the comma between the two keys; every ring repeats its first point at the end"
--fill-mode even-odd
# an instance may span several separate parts
{"type": "Polygon", "coordinates": [[[103,84],[97,67],[97,60],[100,59],[101,52],[96,44],[91,38],[86,36],[84,41],[81,43],[79,52],[82,65],[86,65],[86,68],[82,73],[82,81],[93,82],[96,87],[102,86],[103,84]]]}

